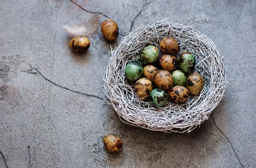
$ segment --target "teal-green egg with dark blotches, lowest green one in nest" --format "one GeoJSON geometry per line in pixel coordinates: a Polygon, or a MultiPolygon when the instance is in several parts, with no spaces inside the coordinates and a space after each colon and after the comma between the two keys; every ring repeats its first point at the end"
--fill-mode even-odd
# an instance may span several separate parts
{"type": "Polygon", "coordinates": [[[150,93],[150,99],[157,107],[162,107],[167,103],[168,95],[162,89],[154,89],[150,93]]]}

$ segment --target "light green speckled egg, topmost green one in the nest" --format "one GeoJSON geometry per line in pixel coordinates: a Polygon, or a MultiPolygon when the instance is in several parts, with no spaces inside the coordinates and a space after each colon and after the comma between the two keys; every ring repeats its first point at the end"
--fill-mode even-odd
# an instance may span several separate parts
{"type": "Polygon", "coordinates": [[[153,63],[157,61],[159,57],[159,51],[155,46],[146,46],[141,51],[140,61],[142,63],[153,63]]]}

